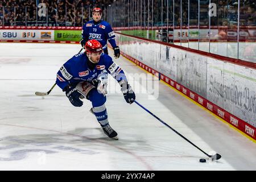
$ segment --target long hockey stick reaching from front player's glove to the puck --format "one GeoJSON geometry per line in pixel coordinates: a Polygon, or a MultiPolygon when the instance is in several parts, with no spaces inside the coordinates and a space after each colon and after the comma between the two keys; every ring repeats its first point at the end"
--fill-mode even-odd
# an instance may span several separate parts
{"type": "Polygon", "coordinates": [[[197,149],[199,149],[201,152],[203,152],[205,155],[207,155],[209,158],[212,158],[214,160],[218,160],[221,158],[220,154],[214,154],[214,155],[209,155],[207,154],[207,152],[201,150],[201,148],[197,147],[195,144],[193,144],[190,140],[188,140],[187,138],[185,138],[183,135],[181,135],[179,132],[177,132],[175,129],[173,129],[171,126],[167,125],[167,123],[165,123],[162,119],[158,118],[155,114],[151,113],[151,111],[147,110],[145,107],[143,107],[141,104],[139,104],[137,101],[134,100],[134,102],[136,104],[138,104],[139,106],[141,106],[144,110],[146,110],[148,113],[150,113],[152,116],[154,116],[156,119],[158,119],[160,122],[162,122],[164,125],[166,125],[168,128],[170,128],[172,131],[174,131],[176,134],[180,135],[180,137],[182,137],[183,139],[185,139],[187,142],[191,143],[194,147],[196,147],[197,149]]]}

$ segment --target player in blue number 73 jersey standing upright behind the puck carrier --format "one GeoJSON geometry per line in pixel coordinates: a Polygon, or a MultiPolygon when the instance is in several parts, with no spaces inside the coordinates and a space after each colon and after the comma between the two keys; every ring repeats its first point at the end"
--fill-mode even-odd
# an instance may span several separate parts
{"type": "MultiPolygon", "coordinates": [[[[112,30],[112,27],[108,22],[101,20],[102,10],[98,7],[95,7],[92,11],[93,20],[86,22],[82,26],[82,39],[80,40],[81,46],[84,47],[86,41],[96,39],[101,43],[103,51],[108,55],[108,44],[111,44],[114,49],[114,57],[117,59],[120,56],[120,50],[117,44],[115,43],[115,34],[112,30]]],[[[105,93],[108,92],[108,75],[102,77],[105,93]]]]}

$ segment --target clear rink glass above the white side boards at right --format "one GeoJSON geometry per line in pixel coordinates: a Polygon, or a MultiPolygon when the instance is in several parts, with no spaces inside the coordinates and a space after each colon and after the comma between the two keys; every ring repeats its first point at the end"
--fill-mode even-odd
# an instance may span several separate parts
{"type": "Polygon", "coordinates": [[[122,0],[113,2],[108,12],[109,23],[124,34],[256,63],[256,13],[250,1],[122,0]],[[121,5],[113,6],[117,3],[121,5]],[[127,26],[114,23],[123,20],[112,15],[120,7],[125,12],[122,4],[133,10],[133,23],[127,26]]]}

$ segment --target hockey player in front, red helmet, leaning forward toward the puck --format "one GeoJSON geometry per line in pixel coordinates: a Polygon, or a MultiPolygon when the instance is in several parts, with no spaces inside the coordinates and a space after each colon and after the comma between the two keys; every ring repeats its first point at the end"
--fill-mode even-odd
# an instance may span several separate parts
{"type": "Polygon", "coordinates": [[[109,138],[118,139],[117,133],[109,125],[105,106],[106,96],[98,79],[104,71],[118,81],[126,102],[132,104],[135,93],[128,84],[125,73],[109,55],[102,53],[102,46],[97,40],[88,40],[85,44],[85,53],[73,56],[60,68],[56,84],[65,92],[73,106],[81,107],[81,98],[92,102],[93,107],[90,111],[96,116],[104,133],[109,138]]]}

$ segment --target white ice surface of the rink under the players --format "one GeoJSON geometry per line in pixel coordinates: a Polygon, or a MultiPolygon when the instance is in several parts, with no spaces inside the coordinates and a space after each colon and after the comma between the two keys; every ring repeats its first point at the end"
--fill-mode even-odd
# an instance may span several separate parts
{"type": "MultiPolygon", "coordinates": [[[[156,100],[136,87],[137,101],[205,152],[221,154],[220,160],[208,159],[137,104],[127,104],[121,92],[110,92],[106,102],[119,140],[102,132],[88,100],[73,107],[57,86],[49,96],[35,96],[51,88],[78,44],[0,43],[0,50],[0,170],[256,169],[254,142],[162,82],[153,81],[159,83],[156,100]]],[[[114,61],[126,73],[145,73],[122,56],[114,61]]]]}

